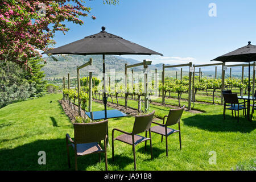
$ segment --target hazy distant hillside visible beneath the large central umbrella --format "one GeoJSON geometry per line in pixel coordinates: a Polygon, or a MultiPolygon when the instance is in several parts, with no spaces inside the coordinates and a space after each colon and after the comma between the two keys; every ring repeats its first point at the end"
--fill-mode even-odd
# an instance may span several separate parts
{"type": "MultiPolygon", "coordinates": [[[[57,55],[55,58],[58,61],[53,60],[51,57],[45,57],[46,65],[43,67],[43,71],[46,74],[46,78],[48,77],[63,77],[67,76],[67,73],[70,73],[71,77],[76,77],[76,67],[80,66],[87,61],[89,61],[90,57],[93,59],[93,65],[96,68],[96,72],[93,75],[98,75],[102,73],[102,55],[88,55],[88,56],[80,56],[80,55],[57,55]]],[[[125,71],[125,63],[127,64],[136,64],[140,61],[134,59],[127,59],[121,56],[105,56],[105,67],[106,72],[109,72],[110,69],[115,69],[115,72],[124,72],[125,71]]],[[[158,69],[162,71],[162,64],[150,65],[150,70],[158,69]]],[[[134,72],[142,71],[143,67],[134,68],[134,72]]],[[[169,68],[168,70],[176,70],[176,68],[169,68]]],[[[88,69],[83,68],[80,71],[81,76],[88,76],[88,69]]]]}

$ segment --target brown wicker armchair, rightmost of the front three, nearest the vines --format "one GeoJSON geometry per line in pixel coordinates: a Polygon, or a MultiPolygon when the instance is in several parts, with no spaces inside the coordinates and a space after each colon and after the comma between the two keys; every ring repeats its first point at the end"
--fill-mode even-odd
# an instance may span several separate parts
{"type": "Polygon", "coordinates": [[[181,107],[180,109],[170,109],[169,114],[164,116],[163,124],[155,123],[158,126],[151,127],[151,131],[156,134],[162,135],[161,142],[163,142],[163,136],[166,137],[166,156],[168,156],[168,136],[174,133],[179,132],[179,139],[180,139],[180,150],[181,150],[181,136],[180,136],[180,118],[183,113],[185,106],[181,107]],[[167,117],[166,124],[164,124],[164,119],[167,117]],[[179,130],[171,129],[167,126],[176,125],[178,123],[179,130]]]}

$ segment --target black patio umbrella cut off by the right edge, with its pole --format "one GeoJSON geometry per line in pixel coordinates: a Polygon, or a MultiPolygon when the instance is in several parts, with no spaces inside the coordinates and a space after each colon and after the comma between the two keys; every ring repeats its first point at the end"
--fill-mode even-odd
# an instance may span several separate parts
{"type": "MultiPolygon", "coordinates": [[[[236,49],[235,51],[226,53],[225,55],[219,56],[216,59],[211,61],[221,61],[225,62],[246,62],[249,63],[249,82],[248,82],[248,100],[250,98],[250,62],[256,60],[256,46],[251,45],[251,42],[248,42],[247,46],[236,49]]],[[[248,108],[250,102],[248,102],[248,108]]],[[[249,111],[249,109],[248,109],[249,111]]]]}

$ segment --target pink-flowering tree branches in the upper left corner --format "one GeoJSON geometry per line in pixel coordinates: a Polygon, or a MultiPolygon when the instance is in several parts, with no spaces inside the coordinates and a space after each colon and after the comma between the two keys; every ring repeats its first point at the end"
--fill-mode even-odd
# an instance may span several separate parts
{"type": "MultiPolygon", "coordinates": [[[[107,4],[118,0],[103,0],[107,4]]],[[[14,61],[24,68],[28,59],[40,57],[55,44],[56,31],[69,30],[64,21],[83,24],[81,16],[90,14],[82,0],[2,0],[0,3],[0,60],[14,61]],[[69,2],[72,3],[69,4],[69,2]]],[[[92,19],[96,19],[92,16],[92,19]]]]}

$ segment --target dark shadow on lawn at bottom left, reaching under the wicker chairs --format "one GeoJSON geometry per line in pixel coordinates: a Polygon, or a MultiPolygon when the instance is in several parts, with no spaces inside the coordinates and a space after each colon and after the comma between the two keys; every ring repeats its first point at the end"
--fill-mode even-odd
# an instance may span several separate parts
{"type": "MultiPolygon", "coordinates": [[[[0,150],[0,171],[13,171],[13,170],[75,170],[75,154],[72,147],[69,147],[71,156],[71,168],[68,168],[67,148],[65,139],[51,139],[51,140],[36,140],[35,142],[23,144],[22,146],[12,149],[0,150]],[[46,164],[38,164],[39,151],[46,152],[46,164]]],[[[101,163],[104,163],[105,158],[102,156],[101,163]]],[[[117,163],[127,160],[118,158],[117,163]]],[[[129,160],[128,160],[129,161],[129,160]]],[[[131,162],[133,160],[131,159],[131,162]]],[[[98,154],[90,154],[80,156],[77,158],[78,169],[84,170],[89,166],[98,163],[98,154]]],[[[105,164],[103,165],[105,167],[105,164]]],[[[122,165],[121,165],[122,166],[122,165]]],[[[105,169],[105,168],[103,168],[105,169]]]]}

